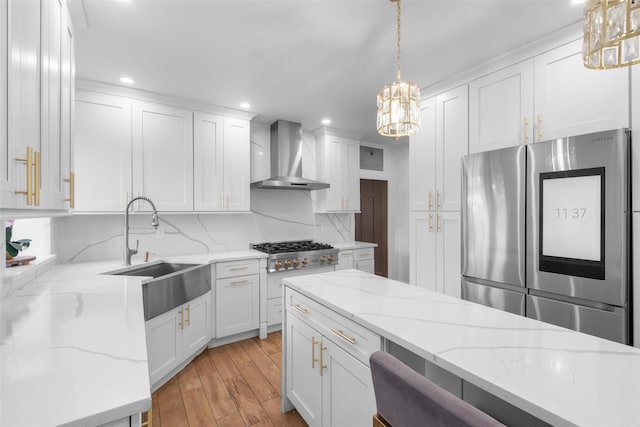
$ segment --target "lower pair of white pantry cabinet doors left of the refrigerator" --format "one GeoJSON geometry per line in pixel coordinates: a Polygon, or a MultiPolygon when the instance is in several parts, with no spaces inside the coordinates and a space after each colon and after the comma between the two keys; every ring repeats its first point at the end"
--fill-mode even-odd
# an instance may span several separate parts
{"type": "Polygon", "coordinates": [[[411,212],[410,282],[460,298],[460,212],[411,212]]]}

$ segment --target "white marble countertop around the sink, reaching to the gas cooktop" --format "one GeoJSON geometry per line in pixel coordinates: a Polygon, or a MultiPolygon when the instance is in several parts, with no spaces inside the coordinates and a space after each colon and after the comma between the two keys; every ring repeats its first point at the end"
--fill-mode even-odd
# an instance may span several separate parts
{"type": "MultiPolygon", "coordinates": [[[[246,250],[152,261],[266,256],[246,250]]],[[[93,426],[149,409],[146,278],[102,274],[124,268],[122,260],[31,267],[11,273],[13,289],[0,301],[0,426],[93,426]]]]}

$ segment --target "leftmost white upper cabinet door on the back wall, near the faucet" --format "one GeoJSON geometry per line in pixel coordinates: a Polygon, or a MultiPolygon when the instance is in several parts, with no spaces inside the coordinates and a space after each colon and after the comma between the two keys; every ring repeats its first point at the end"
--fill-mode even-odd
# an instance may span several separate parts
{"type": "Polygon", "coordinates": [[[76,211],[122,212],[131,196],[131,101],[78,91],[76,211]]]}

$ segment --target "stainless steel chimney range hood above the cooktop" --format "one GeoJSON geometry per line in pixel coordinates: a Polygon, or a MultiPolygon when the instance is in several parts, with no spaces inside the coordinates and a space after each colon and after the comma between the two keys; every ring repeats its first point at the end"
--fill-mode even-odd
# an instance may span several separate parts
{"type": "Polygon", "coordinates": [[[302,177],[302,125],[277,120],[271,124],[271,178],[251,188],[322,190],[329,184],[302,177]]]}

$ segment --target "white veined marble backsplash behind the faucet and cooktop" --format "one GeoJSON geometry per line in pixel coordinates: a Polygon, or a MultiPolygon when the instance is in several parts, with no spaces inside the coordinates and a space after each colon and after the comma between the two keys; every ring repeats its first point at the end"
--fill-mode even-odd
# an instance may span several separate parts
{"type": "MultiPolygon", "coordinates": [[[[317,214],[312,194],[296,190],[251,190],[251,212],[163,214],[154,230],[150,213],[130,216],[129,246],[140,241],[141,259],[247,249],[250,243],[314,239],[352,242],[353,214],[317,214]]],[[[122,258],[124,214],[73,215],[52,219],[52,252],[58,262],[122,258]]]]}

